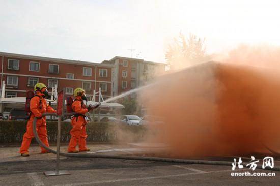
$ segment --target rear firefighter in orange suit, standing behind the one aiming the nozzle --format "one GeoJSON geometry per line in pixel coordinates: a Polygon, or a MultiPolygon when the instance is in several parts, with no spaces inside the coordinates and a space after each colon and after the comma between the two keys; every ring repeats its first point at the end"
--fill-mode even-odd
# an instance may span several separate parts
{"type": "MultiPolygon", "coordinates": [[[[42,113],[57,112],[47,104],[46,99],[49,99],[50,96],[48,94],[46,85],[44,85],[43,83],[37,83],[34,86],[34,91],[35,91],[35,96],[30,100],[31,113],[29,116],[29,120],[27,122],[26,132],[23,135],[23,139],[19,151],[21,156],[29,156],[28,148],[30,146],[32,138],[34,138],[34,133],[32,128],[34,117],[38,118],[36,122],[36,130],[38,136],[46,146],[49,146],[48,136],[47,136],[46,117],[45,116],[42,117],[42,113]]],[[[47,153],[47,151],[43,147],[41,147],[41,153],[47,153]]]]}

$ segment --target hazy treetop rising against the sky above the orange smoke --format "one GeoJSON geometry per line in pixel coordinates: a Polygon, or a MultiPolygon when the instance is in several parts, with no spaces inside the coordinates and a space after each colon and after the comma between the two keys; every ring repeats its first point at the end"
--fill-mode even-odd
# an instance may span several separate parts
{"type": "Polygon", "coordinates": [[[172,70],[188,67],[198,63],[202,63],[208,59],[205,47],[205,38],[199,38],[193,34],[189,34],[186,39],[180,33],[179,38],[174,38],[172,44],[169,44],[165,53],[165,58],[172,70]]]}

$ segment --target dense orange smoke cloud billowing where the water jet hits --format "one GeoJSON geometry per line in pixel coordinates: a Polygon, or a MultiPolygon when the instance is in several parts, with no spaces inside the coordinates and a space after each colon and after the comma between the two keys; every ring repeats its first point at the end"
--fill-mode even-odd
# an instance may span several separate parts
{"type": "MultiPolygon", "coordinates": [[[[263,144],[279,149],[280,75],[244,65],[264,65],[264,52],[248,51],[232,52],[227,62],[235,64],[208,62],[158,78],[143,96],[147,114],[164,123],[151,125],[149,142],[165,143],[178,158],[253,155],[267,152],[263,144]],[[248,61],[253,54],[260,60],[248,61]]],[[[277,61],[268,59],[269,67],[277,61]]]]}

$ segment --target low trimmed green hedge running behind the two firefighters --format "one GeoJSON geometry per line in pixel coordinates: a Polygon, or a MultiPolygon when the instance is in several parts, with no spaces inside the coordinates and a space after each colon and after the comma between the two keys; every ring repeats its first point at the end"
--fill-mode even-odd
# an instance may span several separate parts
{"type": "MultiPolygon", "coordinates": [[[[27,121],[0,121],[0,144],[21,143],[26,132],[27,121]]],[[[116,142],[116,141],[137,141],[144,137],[146,129],[143,126],[117,125],[105,122],[87,124],[87,141],[95,142],[116,142]]],[[[61,141],[68,142],[71,138],[70,122],[62,122],[61,141]]],[[[58,122],[48,121],[47,131],[49,142],[57,141],[58,122]]]]}

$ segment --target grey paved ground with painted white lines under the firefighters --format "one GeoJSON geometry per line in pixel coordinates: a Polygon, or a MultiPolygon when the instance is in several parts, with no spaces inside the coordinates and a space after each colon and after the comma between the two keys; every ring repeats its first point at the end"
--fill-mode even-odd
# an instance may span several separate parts
{"type": "MultiPolygon", "coordinates": [[[[91,153],[141,154],[150,148],[145,145],[91,144],[91,153]]],[[[155,147],[153,147],[155,149],[155,147]]],[[[158,151],[164,148],[157,148],[158,151]]],[[[61,151],[66,150],[62,145],[61,151]]],[[[32,146],[30,157],[20,157],[18,147],[0,148],[0,185],[280,185],[280,172],[270,170],[236,169],[231,166],[181,164],[100,158],[61,157],[60,170],[71,175],[48,176],[55,170],[54,154],[39,154],[32,146]],[[233,177],[232,172],[275,173],[273,177],[233,177]]],[[[275,161],[280,165],[278,160],[275,161]]]]}

